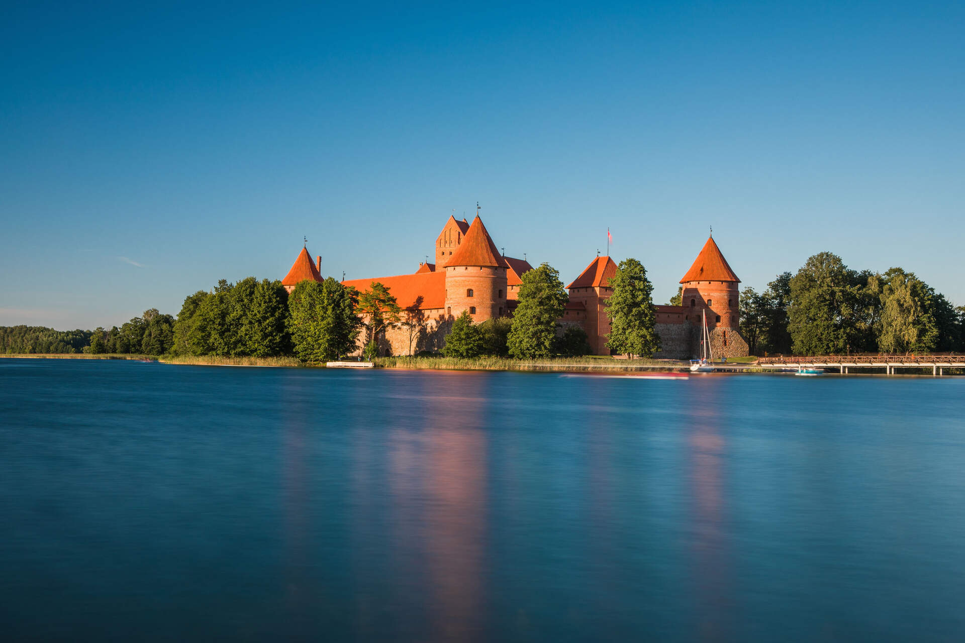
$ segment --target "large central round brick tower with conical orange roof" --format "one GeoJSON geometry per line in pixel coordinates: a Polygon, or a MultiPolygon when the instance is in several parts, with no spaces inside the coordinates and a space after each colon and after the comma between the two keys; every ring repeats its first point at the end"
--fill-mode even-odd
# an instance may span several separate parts
{"type": "MultiPolygon", "coordinates": [[[[451,221],[455,222],[455,219],[451,221]]],[[[444,268],[446,316],[455,318],[463,310],[468,310],[473,322],[479,323],[506,315],[508,264],[499,254],[479,215],[456,243],[454,254],[446,255],[444,268]]]]}

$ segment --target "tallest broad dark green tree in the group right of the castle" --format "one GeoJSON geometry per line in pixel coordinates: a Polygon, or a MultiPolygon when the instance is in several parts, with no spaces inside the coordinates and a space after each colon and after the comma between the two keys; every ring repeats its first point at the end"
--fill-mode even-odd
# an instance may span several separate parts
{"type": "Polygon", "coordinates": [[[827,355],[858,348],[855,323],[862,290],[858,275],[838,255],[808,259],[790,282],[787,331],[794,353],[827,355]]]}

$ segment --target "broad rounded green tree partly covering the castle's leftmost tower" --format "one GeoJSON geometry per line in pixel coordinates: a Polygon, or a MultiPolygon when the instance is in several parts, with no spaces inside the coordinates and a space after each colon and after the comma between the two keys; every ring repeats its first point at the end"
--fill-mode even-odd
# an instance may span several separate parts
{"type": "Polygon", "coordinates": [[[329,277],[301,281],[289,296],[289,330],[302,362],[326,362],[349,353],[359,334],[355,290],[329,277]]]}

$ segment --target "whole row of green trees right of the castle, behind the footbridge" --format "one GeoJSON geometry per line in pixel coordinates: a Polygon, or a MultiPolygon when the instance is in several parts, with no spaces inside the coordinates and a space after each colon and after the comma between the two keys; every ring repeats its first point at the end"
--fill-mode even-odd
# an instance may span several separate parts
{"type": "Polygon", "coordinates": [[[740,330],[755,355],[961,352],[965,307],[902,268],[856,271],[820,253],[762,292],[744,288],[740,330]]]}

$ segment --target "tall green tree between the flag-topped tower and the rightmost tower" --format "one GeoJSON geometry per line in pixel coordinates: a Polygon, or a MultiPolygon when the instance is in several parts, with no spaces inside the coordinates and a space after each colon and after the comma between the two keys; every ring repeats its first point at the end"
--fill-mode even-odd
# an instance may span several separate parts
{"type": "Polygon", "coordinates": [[[610,317],[607,347],[622,355],[651,357],[660,350],[653,308],[653,284],[637,259],[623,259],[610,280],[613,295],[606,301],[610,317]]]}

